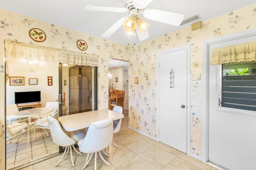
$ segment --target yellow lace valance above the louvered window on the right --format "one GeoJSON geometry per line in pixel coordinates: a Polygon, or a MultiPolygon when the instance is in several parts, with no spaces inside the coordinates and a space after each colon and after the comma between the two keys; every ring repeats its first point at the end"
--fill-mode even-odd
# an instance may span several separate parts
{"type": "Polygon", "coordinates": [[[256,41],[212,49],[211,65],[256,61],[256,41]]]}

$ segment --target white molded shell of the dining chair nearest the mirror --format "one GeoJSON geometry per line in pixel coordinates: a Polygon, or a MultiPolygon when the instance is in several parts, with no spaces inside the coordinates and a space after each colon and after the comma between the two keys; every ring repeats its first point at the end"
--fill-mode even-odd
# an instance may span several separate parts
{"type": "Polygon", "coordinates": [[[60,123],[57,119],[54,119],[50,116],[47,116],[48,125],[50,132],[52,134],[53,142],[61,147],[70,146],[76,143],[76,140],[69,137],[60,126],[60,123]]]}

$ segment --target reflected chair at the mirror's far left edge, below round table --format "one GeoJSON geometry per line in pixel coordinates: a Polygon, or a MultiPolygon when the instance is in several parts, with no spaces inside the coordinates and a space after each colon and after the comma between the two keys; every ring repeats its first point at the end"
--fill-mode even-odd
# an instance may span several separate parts
{"type": "Polygon", "coordinates": [[[12,123],[11,119],[8,119],[8,121],[6,120],[6,141],[10,140],[10,143],[11,143],[12,138],[18,136],[15,141],[15,143],[17,143],[20,135],[22,135],[22,133],[24,133],[25,131],[28,131],[28,143],[29,143],[29,130],[28,129],[31,125],[32,125],[32,123],[26,123],[26,122],[22,122],[22,123],[13,122],[12,123]]]}

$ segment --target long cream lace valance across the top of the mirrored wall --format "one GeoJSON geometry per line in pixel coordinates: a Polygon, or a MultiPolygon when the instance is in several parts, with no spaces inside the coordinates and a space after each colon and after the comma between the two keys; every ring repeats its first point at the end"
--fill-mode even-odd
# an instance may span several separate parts
{"type": "Polygon", "coordinates": [[[44,47],[4,40],[5,56],[14,59],[51,61],[64,64],[76,64],[83,66],[98,66],[98,56],[75,51],[61,50],[52,47],[44,47]]]}

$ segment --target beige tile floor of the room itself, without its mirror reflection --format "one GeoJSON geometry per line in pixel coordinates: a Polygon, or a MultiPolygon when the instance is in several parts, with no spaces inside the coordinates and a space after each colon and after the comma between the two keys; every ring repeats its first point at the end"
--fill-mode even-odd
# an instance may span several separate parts
{"type": "MultiPolygon", "coordinates": [[[[99,157],[97,160],[98,170],[218,170],[179,150],[128,129],[127,115],[122,120],[120,131],[114,134],[114,142],[118,148],[113,144],[110,145],[110,157],[104,156],[110,166],[107,166],[99,157]]],[[[77,156],[73,152],[74,167],[71,164],[70,154],[64,156],[60,164],[55,167],[54,165],[61,155],[22,168],[22,170],[80,170],[84,166],[87,156],[87,154],[77,156]]],[[[92,159],[86,170],[93,169],[94,160],[92,159]]]]}

